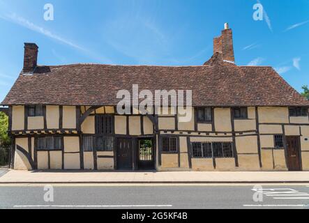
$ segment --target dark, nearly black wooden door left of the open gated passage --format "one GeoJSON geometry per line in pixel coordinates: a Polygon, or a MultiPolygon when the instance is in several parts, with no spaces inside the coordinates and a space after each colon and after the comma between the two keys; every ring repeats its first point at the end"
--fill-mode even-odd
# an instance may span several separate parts
{"type": "Polygon", "coordinates": [[[133,169],[132,160],[132,139],[117,139],[117,169],[130,170],[133,169]]]}

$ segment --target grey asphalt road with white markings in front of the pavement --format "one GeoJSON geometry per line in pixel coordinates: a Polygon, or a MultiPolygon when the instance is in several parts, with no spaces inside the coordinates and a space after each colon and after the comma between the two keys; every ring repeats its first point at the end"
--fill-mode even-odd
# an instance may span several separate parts
{"type": "Polygon", "coordinates": [[[258,194],[253,186],[54,185],[46,202],[44,185],[0,185],[0,208],[309,208],[306,185],[265,185],[258,194]]]}

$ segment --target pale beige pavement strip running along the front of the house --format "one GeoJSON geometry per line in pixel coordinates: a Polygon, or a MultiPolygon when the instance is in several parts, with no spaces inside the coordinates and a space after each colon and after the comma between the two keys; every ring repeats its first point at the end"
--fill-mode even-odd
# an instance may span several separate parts
{"type": "Polygon", "coordinates": [[[309,172],[0,170],[6,183],[309,183],[309,172]]]}

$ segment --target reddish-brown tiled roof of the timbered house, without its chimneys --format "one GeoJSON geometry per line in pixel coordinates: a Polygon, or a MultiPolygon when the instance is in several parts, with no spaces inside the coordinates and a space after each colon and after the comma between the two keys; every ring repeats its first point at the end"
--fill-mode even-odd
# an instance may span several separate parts
{"type": "Polygon", "coordinates": [[[308,106],[271,67],[236,66],[214,54],[204,66],[38,66],[20,74],[2,105],[117,105],[117,91],[193,90],[195,106],[308,106]]]}

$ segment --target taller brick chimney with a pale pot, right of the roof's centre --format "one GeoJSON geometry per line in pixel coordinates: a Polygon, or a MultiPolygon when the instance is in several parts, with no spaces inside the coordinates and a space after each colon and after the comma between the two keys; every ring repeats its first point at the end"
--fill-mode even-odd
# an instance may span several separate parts
{"type": "Polygon", "coordinates": [[[223,55],[224,61],[235,63],[233,33],[227,23],[225,23],[225,29],[222,31],[221,36],[213,38],[213,54],[216,54],[216,52],[223,55]]]}

